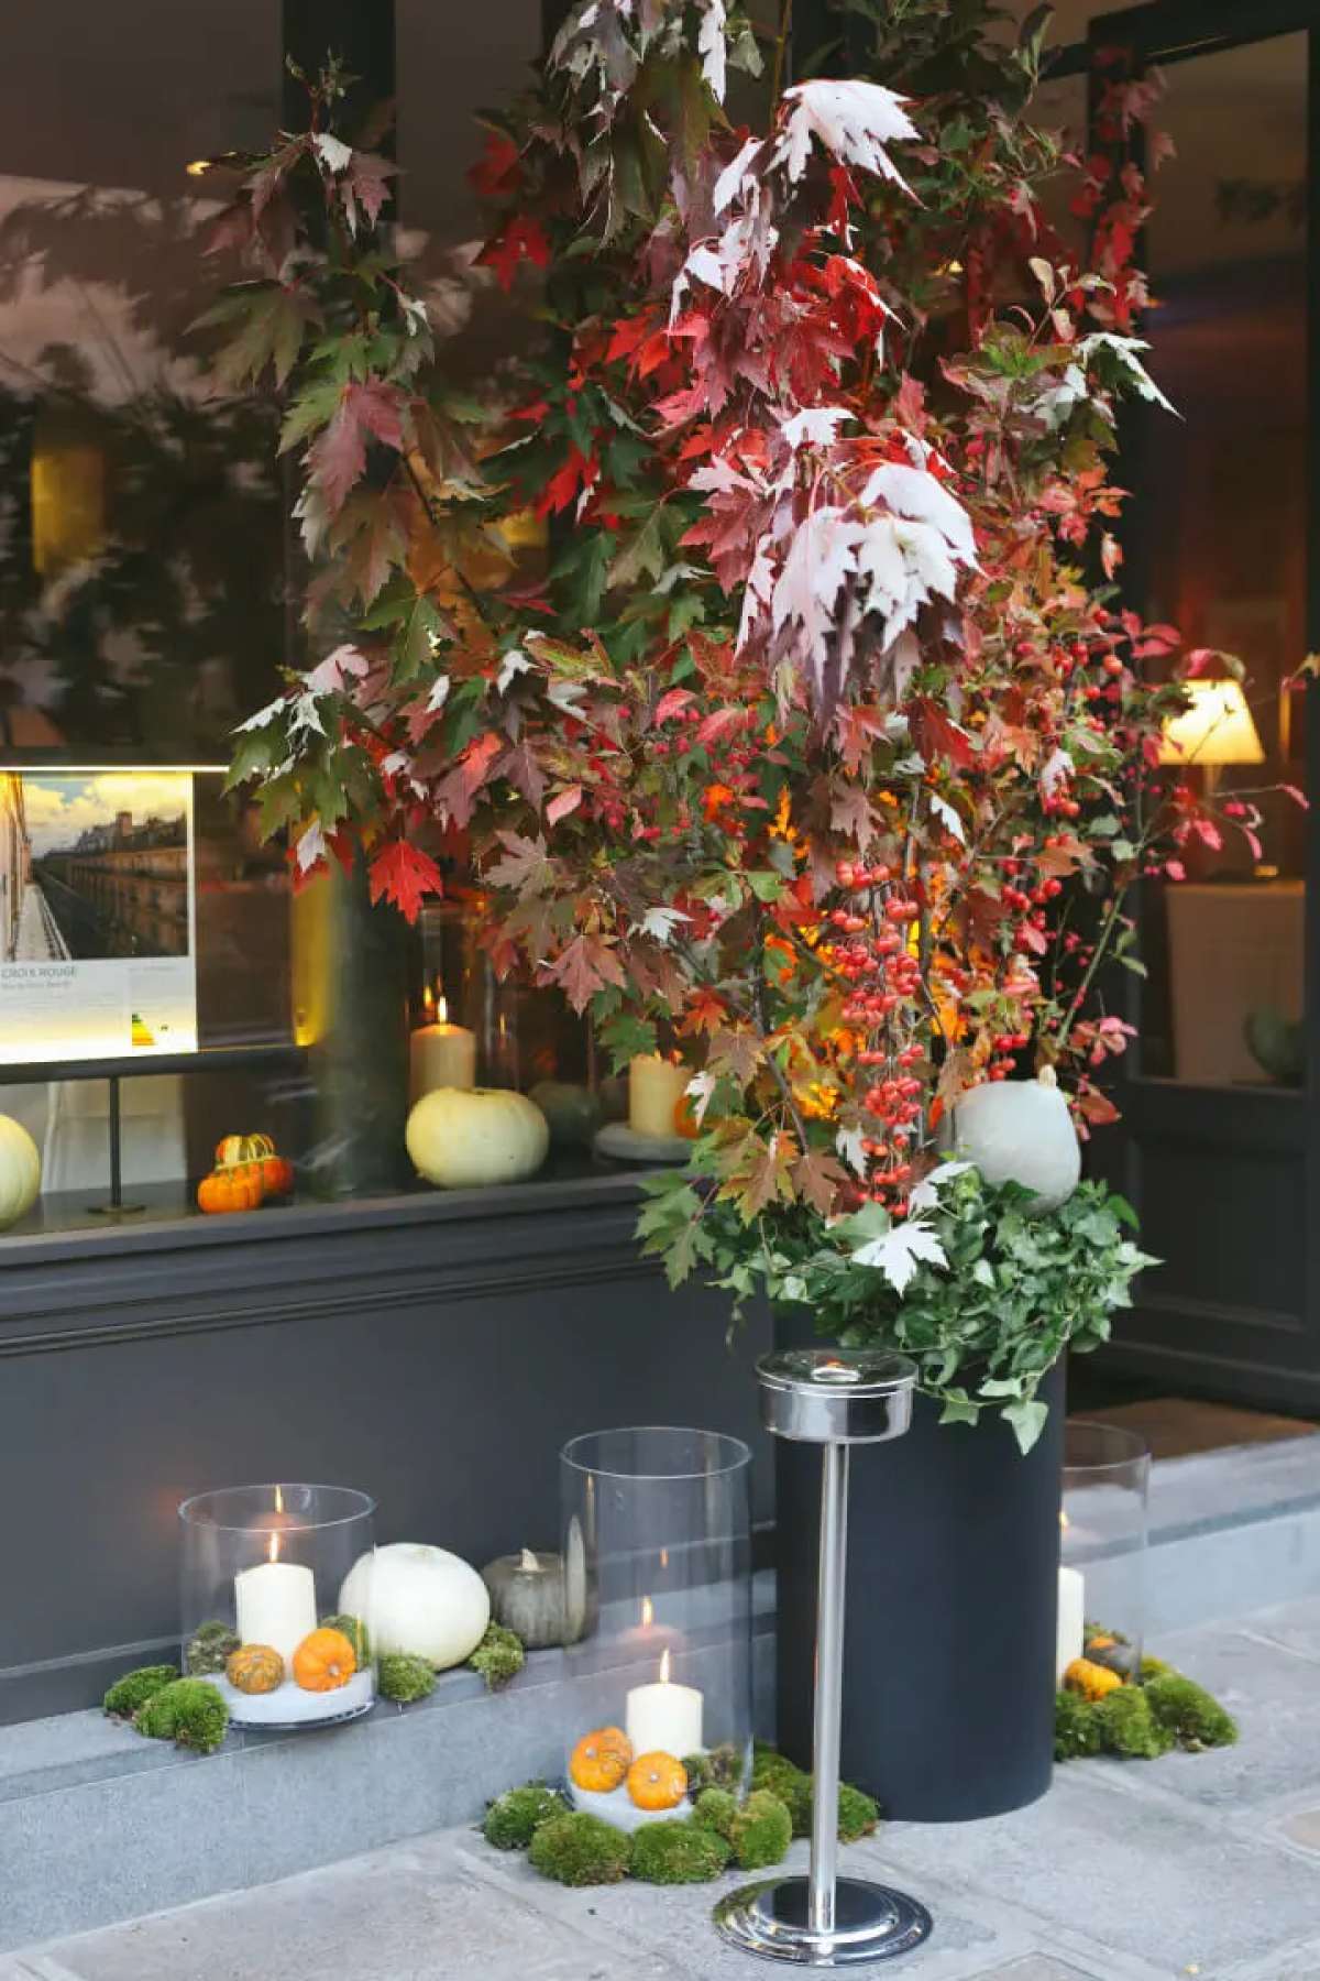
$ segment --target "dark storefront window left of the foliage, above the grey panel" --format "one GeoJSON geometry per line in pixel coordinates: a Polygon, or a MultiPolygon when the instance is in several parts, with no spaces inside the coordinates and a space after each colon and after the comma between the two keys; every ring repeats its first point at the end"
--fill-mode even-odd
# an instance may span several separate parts
{"type": "MultiPolygon", "coordinates": [[[[200,166],[263,151],[287,119],[293,14],[236,0],[135,26],[53,0],[6,26],[0,1113],[44,1157],[18,1234],[101,1216],[113,1111],[133,1214],[194,1214],[226,1135],[269,1137],[299,1200],[412,1187],[408,1028],[437,1000],[473,1032],[481,1082],[586,1074],[580,1026],[493,985],[479,897],[459,886],[427,967],[435,945],[388,909],[364,939],[350,884],[295,899],[287,846],[224,788],[236,723],[303,662],[307,573],[273,394],[206,372],[196,319],[237,267],[202,252],[220,196],[200,166]]],[[[471,269],[475,115],[538,40],[534,0],[457,42],[433,6],[396,14],[402,246],[457,380],[501,355],[493,283],[471,269]]]]}

